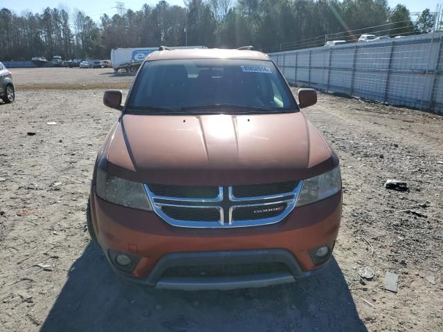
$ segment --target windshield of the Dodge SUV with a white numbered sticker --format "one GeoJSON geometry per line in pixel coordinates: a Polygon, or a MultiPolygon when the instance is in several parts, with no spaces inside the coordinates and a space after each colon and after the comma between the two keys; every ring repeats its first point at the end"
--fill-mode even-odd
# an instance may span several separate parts
{"type": "Polygon", "coordinates": [[[145,62],[128,108],[137,111],[297,111],[270,61],[174,59],[145,62]]]}

